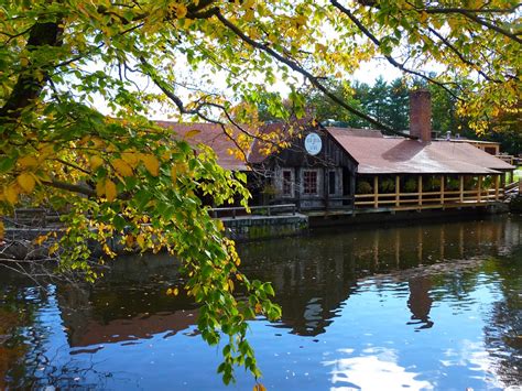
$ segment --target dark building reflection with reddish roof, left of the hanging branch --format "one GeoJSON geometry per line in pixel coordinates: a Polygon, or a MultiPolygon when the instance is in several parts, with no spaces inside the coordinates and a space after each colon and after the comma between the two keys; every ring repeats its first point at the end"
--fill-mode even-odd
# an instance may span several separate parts
{"type": "Polygon", "coordinates": [[[69,345],[134,340],[160,333],[176,334],[192,326],[197,318],[192,301],[182,295],[167,296],[165,285],[154,281],[159,275],[165,278],[165,270],[173,274],[175,269],[167,257],[151,257],[150,261],[129,258],[119,260],[105,284],[90,292],[58,286],[69,345]],[[134,284],[130,283],[132,279],[137,280],[134,284]]]}

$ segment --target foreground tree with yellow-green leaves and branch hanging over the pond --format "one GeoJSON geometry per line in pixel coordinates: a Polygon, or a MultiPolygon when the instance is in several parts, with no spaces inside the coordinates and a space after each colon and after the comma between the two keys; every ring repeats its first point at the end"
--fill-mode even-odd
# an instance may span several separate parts
{"type": "Polygon", "coordinates": [[[247,319],[279,315],[268,300],[272,289],[238,271],[233,243],[196,196],[219,205],[240,195],[246,203],[244,177],[148,118],[164,111],[214,121],[246,148],[257,134],[239,123],[255,129],[260,102],[272,115],[286,110],[280,95],[265,93],[286,83],[298,117],[305,82],[340,109],[395,132],[325,83],[383,57],[407,75],[457,88],[459,110],[481,129],[519,96],[519,7],[515,0],[3,1],[2,213],[24,204],[66,211],[66,230],[51,251],[59,270],[88,279],[96,278],[89,240],[108,256],[104,245],[116,235],[128,248],[176,253],[187,292],[202,304],[203,337],[229,338],[224,380],[236,363],[258,376],[247,319]],[[433,63],[446,70],[431,76],[433,63]],[[459,75],[474,82],[456,85],[459,75]],[[233,296],[236,284],[244,300],[233,296]]]}

